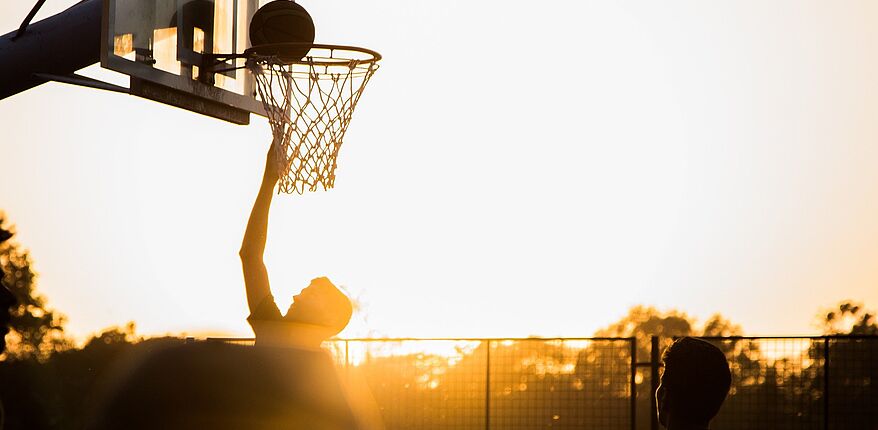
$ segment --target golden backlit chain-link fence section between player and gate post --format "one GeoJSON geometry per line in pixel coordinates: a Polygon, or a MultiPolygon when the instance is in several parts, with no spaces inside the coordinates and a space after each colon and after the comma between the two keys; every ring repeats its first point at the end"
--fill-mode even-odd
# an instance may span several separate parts
{"type": "Polygon", "coordinates": [[[630,429],[633,339],[355,339],[388,429],[630,429]]]}

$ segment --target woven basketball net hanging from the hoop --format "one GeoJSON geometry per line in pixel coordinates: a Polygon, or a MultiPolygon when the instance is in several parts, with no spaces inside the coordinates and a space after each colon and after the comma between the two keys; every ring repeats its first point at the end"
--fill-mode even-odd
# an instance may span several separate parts
{"type": "Polygon", "coordinates": [[[334,186],[336,158],[354,108],[378,70],[377,59],[341,58],[343,49],[315,50],[294,63],[277,55],[254,55],[247,62],[271,124],[279,193],[334,186]]]}

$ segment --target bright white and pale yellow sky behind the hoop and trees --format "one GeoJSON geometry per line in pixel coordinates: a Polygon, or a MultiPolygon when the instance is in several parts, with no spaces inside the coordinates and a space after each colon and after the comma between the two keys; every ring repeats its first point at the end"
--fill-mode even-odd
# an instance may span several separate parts
{"type": "MultiPolygon", "coordinates": [[[[803,334],[878,306],[878,3],[301,3],[385,60],[336,189],[275,198],[282,308],[321,275],[362,303],[349,336],[587,336],[635,304],[803,334]]],[[[265,120],[46,84],[0,121],[0,209],[73,334],[252,334],[265,120]]]]}

